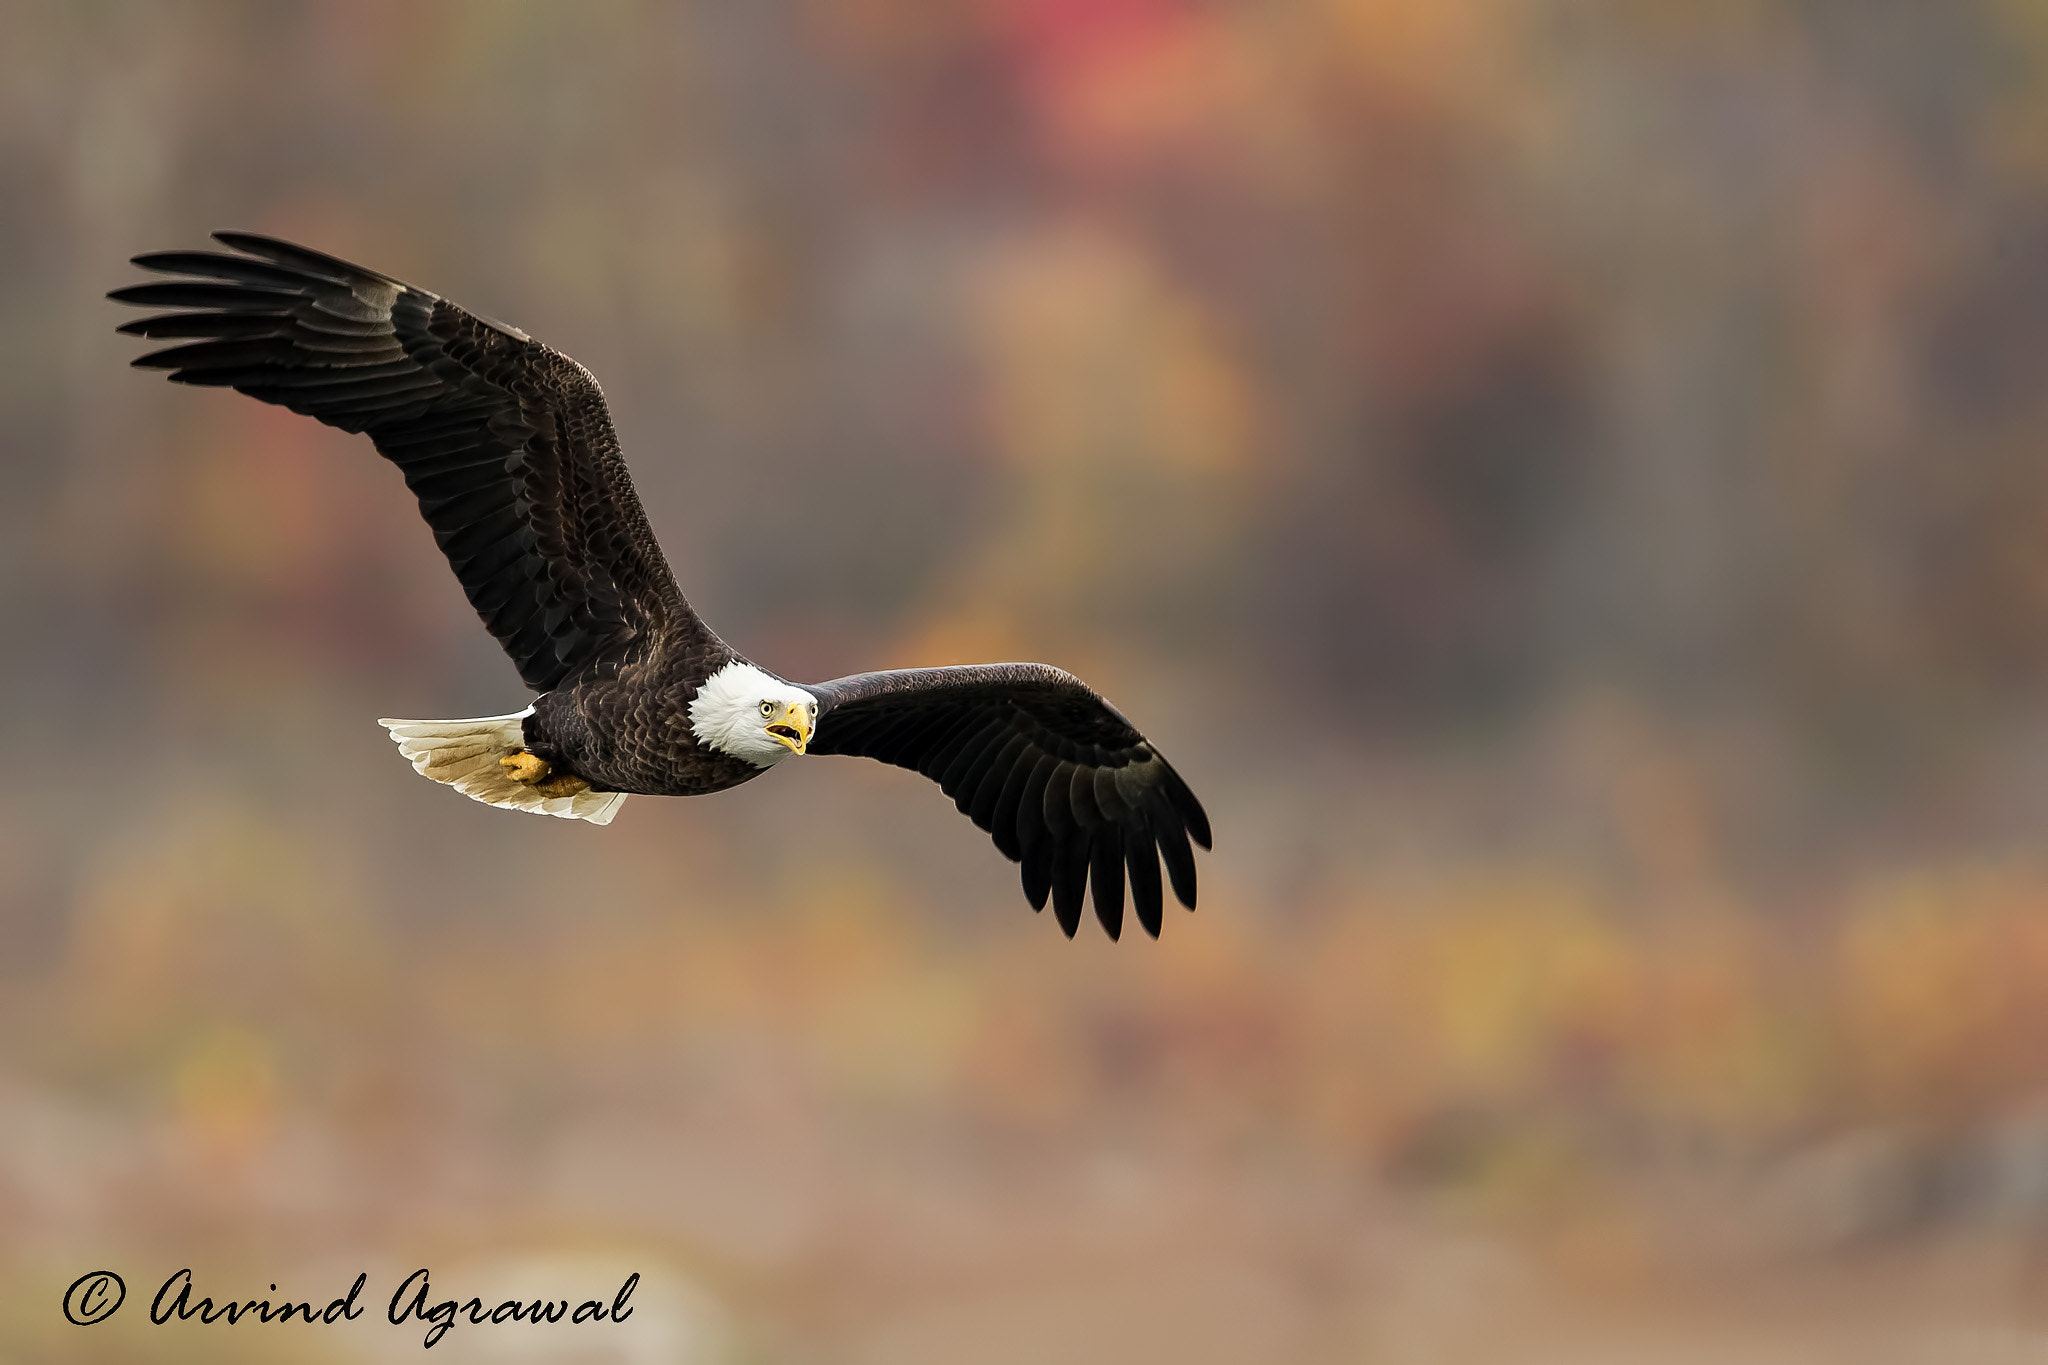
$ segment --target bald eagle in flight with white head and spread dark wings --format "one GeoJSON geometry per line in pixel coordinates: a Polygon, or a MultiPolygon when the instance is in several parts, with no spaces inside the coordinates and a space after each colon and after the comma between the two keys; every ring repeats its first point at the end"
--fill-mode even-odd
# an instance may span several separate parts
{"type": "Polygon", "coordinates": [[[1194,909],[1208,817],[1171,763],[1044,663],[797,684],[698,620],[627,477],[598,381],[502,321],[334,256],[221,231],[229,252],[154,252],[172,280],[109,297],[178,338],[137,366],[238,389],[399,467],[483,628],[539,696],[473,720],[381,720],[412,765],[465,796],[608,825],[629,794],[723,792],[793,753],[854,753],[938,782],[1022,864],[1073,937],[1094,892],[1114,939],[1124,878],[1159,935],[1159,864],[1194,909]]]}

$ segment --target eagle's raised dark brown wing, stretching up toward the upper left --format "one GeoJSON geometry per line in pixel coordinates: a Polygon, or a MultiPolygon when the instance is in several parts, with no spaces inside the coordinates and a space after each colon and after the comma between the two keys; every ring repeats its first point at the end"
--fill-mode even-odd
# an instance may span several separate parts
{"type": "Polygon", "coordinates": [[[135,364],[369,434],[528,688],[616,663],[662,632],[709,636],[584,366],[375,270],[254,233],[215,239],[238,254],[137,256],[186,278],[113,291],[178,309],[121,332],[188,338],[135,364]]]}

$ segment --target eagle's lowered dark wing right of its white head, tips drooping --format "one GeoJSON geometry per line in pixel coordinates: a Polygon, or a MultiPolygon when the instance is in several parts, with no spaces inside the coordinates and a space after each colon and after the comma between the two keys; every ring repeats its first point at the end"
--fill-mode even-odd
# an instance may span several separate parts
{"type": "Polygon", "coordinates": [[[1087,684],[1044,663],[856,673],[809,686],[811,753],[858,753],[938,782],[1012,862],[1034,911],[1053,896],[1073,937],[1094,886],[1096,919],[1124,927],[1124,872],[1145,933],[1159,937],[1159,860],[1194,909],[1192,837],[1208,817],[1180,774],[1087,684]],[[1155,851],[1157,849],[1157,851],[1155,851]]]}

